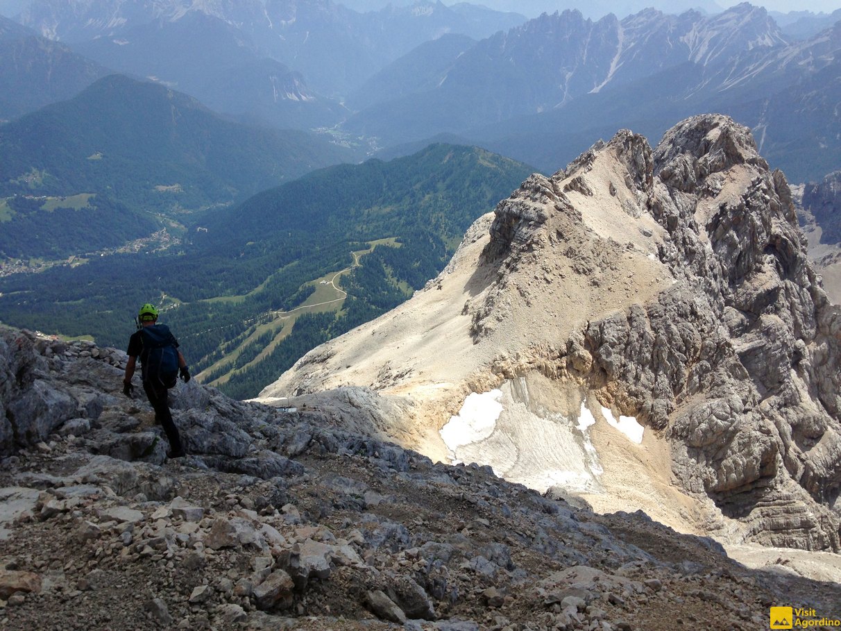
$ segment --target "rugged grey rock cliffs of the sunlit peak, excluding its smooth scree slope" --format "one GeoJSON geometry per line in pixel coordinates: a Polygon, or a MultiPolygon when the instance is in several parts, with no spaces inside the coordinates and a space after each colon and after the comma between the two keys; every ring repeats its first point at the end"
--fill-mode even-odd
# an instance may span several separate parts
{"type": "MultiPolygon", "coordinates": [[[[565,172],[533,177],[490,227],[484,256],[507,270],[500,284],[548,223],[553,247],[579,265],[599,257],[570,248],[560,226],[580,223],[569,191],[592,194],[587,173],[606,153],[623,163],[632,210],[662,229],[657,257],[672,281],[653,300],[573,331],[557,378],[587,384],[662,432],[685,490],[747,523],[755,540],[838,550],[841,314],[807,259],[785,177],[770,171],[749,130],[699,116],[654,150],[621,131],[565,172]]],[[[487,334],[494,310],[476,310],[474,335],[487,334]]]]}

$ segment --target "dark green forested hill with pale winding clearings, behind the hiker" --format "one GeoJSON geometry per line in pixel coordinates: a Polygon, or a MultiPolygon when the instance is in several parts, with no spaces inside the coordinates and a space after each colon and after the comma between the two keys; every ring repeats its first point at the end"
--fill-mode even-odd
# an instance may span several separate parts
{"type": "Polygon", "coordinates": [[[328,167],[206,215],[177,254],[2,278],[0,313],[8,324],[124,347],[135,311],[151,301],[194,373],[209,369],[203,378],[253,396],[309,348],[420,289],[468,225],[531,172],[449,145],[328,167]]]}

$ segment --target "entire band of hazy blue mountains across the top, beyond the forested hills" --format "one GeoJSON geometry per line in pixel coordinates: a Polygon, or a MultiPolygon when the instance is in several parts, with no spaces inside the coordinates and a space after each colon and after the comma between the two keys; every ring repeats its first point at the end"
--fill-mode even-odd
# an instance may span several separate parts
{"type": "MultiPolygon", "coordinates": [[[[714,111],[754,129],[794,181],[822,178],[841,156],[832,133],[838,29],[796,40],[748,3],[526,20],[442,3],[358,13],[330,0],[36,1],[19,19],[101,66],[241,121],[330,128],[380,148],[458,134],[551,171],[594,135],[630,127],[656,136],[714,111]]],[[[810,19],[815,27],[833,17],[793,13],[786,24],[810,19]]]]}

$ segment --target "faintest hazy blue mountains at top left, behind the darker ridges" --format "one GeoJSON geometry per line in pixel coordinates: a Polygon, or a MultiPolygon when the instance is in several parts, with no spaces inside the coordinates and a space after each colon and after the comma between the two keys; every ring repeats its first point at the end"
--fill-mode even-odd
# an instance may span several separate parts
{"type": "MultiPolygon", "coordinates": [[[[479,7],[448,8],[440,2],[357,13],[331,0],[286,3],[247,0],[197,3],[190,7],[174,0],[162,3],[97,0],[63,5],[35,0],[20,19],[50,39],[84,45],[97,59],[103,60],[108,54],[125,55],[138,65],[144,60],[133,54],[131,48],[153,50],[155,38],[162,50],[171,47],[197,53],[204,50],[213,40],[203,41],[206,34],[202,30],[188,30],[185,35],[179,25],[201,22],[212,25],[216,34],[224,29],[236,34],[235,39],[221,39],[223,50],[233,44],[241,49],[241,54],[269,56],[294,72],[301,72],[316,91],[332,96],[359,87],[385,63],[426,40],[446,33],[482,38],[520,24],[524,18],[479,7]],[[119,51],[120,46],[126,46],[125,53],[119,51]]],[[[195,61],[201,63],[201,57],[197,55],[195,61]]],[[[206,68],[212,69],[212,65],[206,68]]],[[[172,81],[173,73],[177,72],[177,67],[172,67],[170,72],[161,73],[160,78],[172,81]]]]}

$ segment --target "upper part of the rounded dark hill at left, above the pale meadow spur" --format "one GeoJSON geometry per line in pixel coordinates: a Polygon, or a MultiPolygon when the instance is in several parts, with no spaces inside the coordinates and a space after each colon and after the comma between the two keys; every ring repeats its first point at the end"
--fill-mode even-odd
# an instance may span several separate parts
{"type": "Polygon", "coordinates": [[[113,75],[0,128],[0,195],[107,194],[172,214],[244,199],[352,154],[300,131],[232,123],[113,75]]]}

